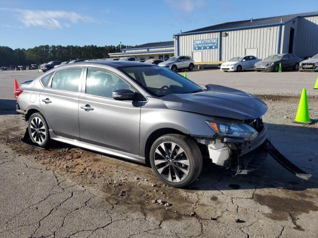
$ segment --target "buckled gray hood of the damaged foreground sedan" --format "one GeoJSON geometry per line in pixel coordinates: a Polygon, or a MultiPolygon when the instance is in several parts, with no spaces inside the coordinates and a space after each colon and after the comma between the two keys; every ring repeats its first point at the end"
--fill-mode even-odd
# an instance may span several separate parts
{"type": "Polygon", "coordinates": [[[206,85],[199,93],[168,94],[161,97],[167,108],[230,119],[256,119],[267,105],[254,95],[221,85],[206,85]]]}

